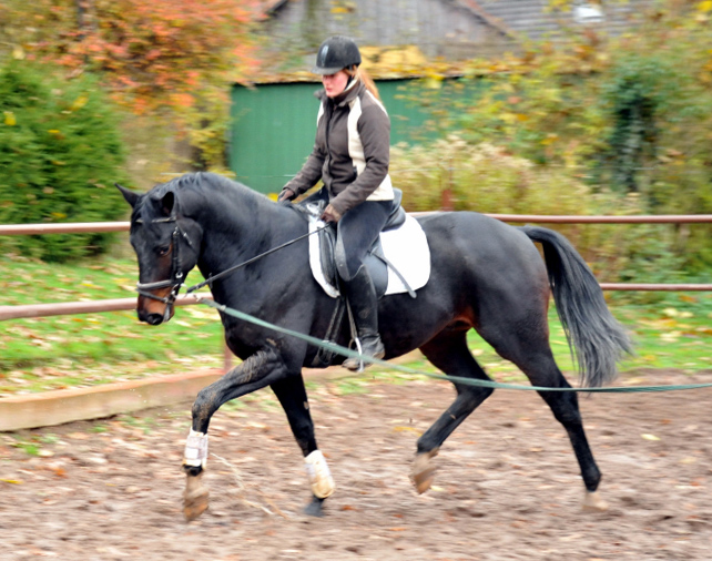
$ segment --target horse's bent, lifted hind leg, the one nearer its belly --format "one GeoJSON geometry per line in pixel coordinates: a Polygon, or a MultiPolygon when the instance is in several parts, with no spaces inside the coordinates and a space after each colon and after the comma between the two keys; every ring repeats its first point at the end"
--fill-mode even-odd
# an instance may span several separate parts
{"type": "MultiPolygon", "coordinates": [[[[467,347],[467,330],[444,332],[420,347],[434,366],[450,376],[489,380],[467,347]]],[[[435,424],[418,439],[411,479],[419,493],[433,483],[433,458],[452,431],[491,394],[491,388],[455,384],[457,397],[435,424]]]]}

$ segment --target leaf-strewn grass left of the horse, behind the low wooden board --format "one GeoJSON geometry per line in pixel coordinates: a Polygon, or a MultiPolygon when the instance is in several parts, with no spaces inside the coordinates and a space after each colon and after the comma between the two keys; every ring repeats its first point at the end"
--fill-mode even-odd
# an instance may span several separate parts
{"type": "MultiPolygon", "coordinates": [[[[0,257],[3,305],[133,298],[130,259],[48,265],[0,257]]],[[[200,277],[189,275],[187,282],[200,277]]],[[[0,323],[0,395],[135,379],[222,366],[217,313],[184,306],[169,324],[139,323],[133,312],[108,312],[0,323]]]]}

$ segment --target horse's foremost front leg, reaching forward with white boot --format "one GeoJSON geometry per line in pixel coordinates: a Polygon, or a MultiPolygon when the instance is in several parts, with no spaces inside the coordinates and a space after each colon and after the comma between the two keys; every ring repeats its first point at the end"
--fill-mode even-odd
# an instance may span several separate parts
{"type": "Polygon", "coordinates": [[[186,520],[196,519],[207,509],[208,491],[203,483],[203,473],[207,461],[207,427],[213,414],[231,399],[274,384],[286,373],[276,350],[260,350],[197,394],[193,404],[193,427],[187,436],[183,459],[187,476],[183,496],[186,520]]]}

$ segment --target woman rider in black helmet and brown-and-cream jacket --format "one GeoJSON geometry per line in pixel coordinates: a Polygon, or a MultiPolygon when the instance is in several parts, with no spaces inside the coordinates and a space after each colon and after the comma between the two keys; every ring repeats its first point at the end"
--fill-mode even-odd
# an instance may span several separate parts
{"type": "MultiPolygon", "coordinates": [[[[314,150],[278,200],[292,201],[324,182],[329,202],[322,220],[337,225],[336,252],[345,256],[345,262],[337,259],[337,268],[354,310],[362,354],[383,358],[376,289],[364,258],[393,206],[390,120],[359,64],[360,52],[350,38],[330,37],[319,47],[312,71],[322,75],[324,90],[316,94],[322,104],[314,150]]],[[[360,361],[348,358],[344,366],[356,370],[360,361]]]]}

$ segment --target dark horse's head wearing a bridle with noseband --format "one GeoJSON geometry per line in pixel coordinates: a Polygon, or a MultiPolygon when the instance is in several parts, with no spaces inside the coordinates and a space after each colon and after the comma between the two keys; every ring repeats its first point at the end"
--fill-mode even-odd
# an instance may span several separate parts
{"type": "Polygon", "coordinates": [[[159,325],[173,317],[173,303],[199,258],[203,231],[179,213],[174,191],[154,188],[145,195],[116,184],[133,207],[131,245],[139,258],[139,319],[159,325]]]}

